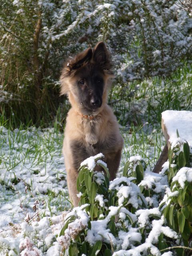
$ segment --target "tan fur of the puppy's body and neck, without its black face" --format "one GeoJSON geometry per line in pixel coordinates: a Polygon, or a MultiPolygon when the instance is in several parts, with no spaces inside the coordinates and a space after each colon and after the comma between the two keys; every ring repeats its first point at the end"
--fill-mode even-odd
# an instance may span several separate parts
{"type": "MultiPolygon", "coordinates": [[[[84,55],[82,54],[82,56],[84,55]]],[[[80,57],[82,58],[82,56],[80,57]]],[[[68,69],[68,66],[65,66],[64,69],[68,69]]],[[[63,72],[66,72],[66,70],[63,72]]],[[[123,139],[119,132],[116,117],[114,116],[112,109],[107,105],[107,95],[111,77],[112,74],[110,74],[108,70],[104,72],[102,106],[94,113],[85,113],[85,110],[82,109],[78,98],[79,96],[74,84],[74,77],[65,75],[61,76],[61,92],[68,94],[70,104],[72,105],[72,108],[69,110],[66,118],[63,155],[67,172],[68,190],[74,206],[77,206],[79,202],[79,199],[76,196],[78,168],[77,166],[75,167],[74,163],[78,162],[78,160],[84,160],[82,159],[84,151],[92,152],[93,155],[100,152],[104,154],[104,161],[107,163],[110,172],[110,180],[115,178],[118,170],[123,139]],[[82,118],[80,114],[94,114],[95,118],[93,120],[89,120],[82,118]],[[95,144],[100,146],[98,146],[98,148],[92,147],[95,144]],[[79,145],[79,155],[78,152],[76,152],[78,151],[78,146],[77,150],[74,149],[76,145],[79,145]],[[91,150],[89,150],[89,148],[91,148],[91,150]]]]}

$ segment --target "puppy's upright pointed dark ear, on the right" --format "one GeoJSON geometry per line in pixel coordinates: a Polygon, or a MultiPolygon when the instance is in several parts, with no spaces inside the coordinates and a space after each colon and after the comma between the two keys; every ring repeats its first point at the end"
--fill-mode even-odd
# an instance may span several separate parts
{"type": "Polygon", "coordinates": [[[105,71],[112,72],[112,60],[104,42],[98,42],[94,47],[93,60],[105,71]]]}

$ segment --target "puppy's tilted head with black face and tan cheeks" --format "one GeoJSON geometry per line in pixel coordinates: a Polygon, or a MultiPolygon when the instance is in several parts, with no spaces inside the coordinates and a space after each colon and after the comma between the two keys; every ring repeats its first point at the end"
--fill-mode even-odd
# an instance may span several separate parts
{"type": "Polygon", "coordinates": [[[72,106],[82,114],[97,114],[107,101],[113,77],[110,54],[103,42],[70,58],[62,70],[61,94],[68,94],[72,106]]]}

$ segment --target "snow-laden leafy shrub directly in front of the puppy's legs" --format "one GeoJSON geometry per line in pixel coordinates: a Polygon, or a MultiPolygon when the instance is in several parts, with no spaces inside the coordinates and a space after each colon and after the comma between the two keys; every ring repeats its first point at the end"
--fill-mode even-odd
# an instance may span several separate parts
{"type": "Polygon", "coordinates": [[[65,218],[58,238],[62,252],[70,256],[163,255],[164,249],[178,239],[178,234],[165,226],[158,208],[168,186],[167,182],[163,184],[166,179],[160,174],[154,177],[153,173],[150,177],[143,160],[132,157],[124,168],[124,176],[109,182],[102,157],[102,154],[90,157],[80,167],[77,180],[80,206],[65,218]],[[97,165],[104,172],[94,172],[97,165]],[[139,186],[137,176],[142,176],[139,186]],[[155,203],[144,196],[147,189],[156,195],[151,198],[155,203]]]}

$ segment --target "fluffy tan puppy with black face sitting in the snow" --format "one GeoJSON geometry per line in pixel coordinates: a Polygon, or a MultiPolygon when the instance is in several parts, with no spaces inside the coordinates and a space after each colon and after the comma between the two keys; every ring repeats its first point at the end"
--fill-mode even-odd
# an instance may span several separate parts
{"type": "Polygon", "coordinates": [[[83,160],[103,153],[110,180],[116,177],[120,164],[123,139],[116,117],[107,105],[111,78],[112,61],[103,42],[70,58],[62,70],[61,94],[68,95],[72,106],[66,119],[63,154],[74,206],[79,202],[76,180],[83,160]]]}

